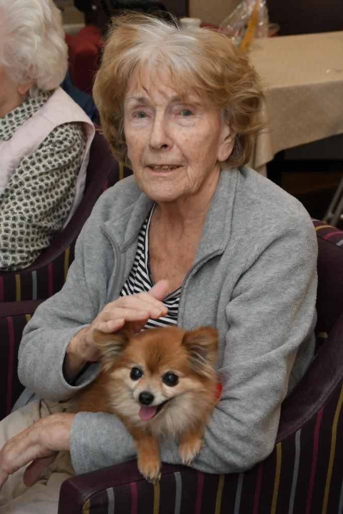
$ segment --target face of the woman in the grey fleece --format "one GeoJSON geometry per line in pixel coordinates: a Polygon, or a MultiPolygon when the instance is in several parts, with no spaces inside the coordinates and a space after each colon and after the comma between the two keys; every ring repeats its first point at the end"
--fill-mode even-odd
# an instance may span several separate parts
{"type": "Polygon", "coordinates": [[[234,143],[218,109],[191,94],[183,103],[167,80],[141,74],[136,82],[124,100],[124,133],[140,189],[174,201],[218,180],[218,161],[234,143]]]}

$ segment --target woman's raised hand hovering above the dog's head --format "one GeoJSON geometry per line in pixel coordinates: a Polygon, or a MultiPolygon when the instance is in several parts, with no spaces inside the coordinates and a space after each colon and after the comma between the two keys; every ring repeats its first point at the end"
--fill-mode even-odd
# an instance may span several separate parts
{"type": "Polygon", "coordinates": [[[165,316],[167,307],[161,302],[169,292],[169,282],[160,280],[148,292],[118,298],[108,303],[93,322],[71,339],[64,362],[64,375],[71,380],[82,370],[86,362],[99,359],[94,341],[94,331],[112,334],[127,324],[133,332],[139,332],[149,318],[165,316]]]}

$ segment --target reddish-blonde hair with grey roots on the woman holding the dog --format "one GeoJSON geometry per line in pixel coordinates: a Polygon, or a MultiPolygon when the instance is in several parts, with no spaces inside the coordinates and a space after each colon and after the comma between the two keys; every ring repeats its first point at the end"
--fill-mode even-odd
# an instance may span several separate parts
{"type": "Polygon", "coordinates": [[[114,156],[129,163],[123,131],[128,84],[142,69],[168,73],[183,98],[195,93],[210,101],[236,133],[234,148],[222,167],[248,162],[261,122],[262,88],[248,59],[227,36],[209,29],[180,28],[144,14],[116,16],[107,36],[93,94],[101,125],[114,156]]]}

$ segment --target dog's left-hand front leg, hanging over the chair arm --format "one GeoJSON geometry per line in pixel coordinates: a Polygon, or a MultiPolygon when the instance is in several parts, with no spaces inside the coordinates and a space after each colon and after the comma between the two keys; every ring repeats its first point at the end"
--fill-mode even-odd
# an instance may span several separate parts
{"type": "Polygon", "coordinates": [[[156,484],[161,478],[159,440],[150,433],[133,435],[136,439],[136,448],[138,449],[138,469],[148,482],[156,484]]]}

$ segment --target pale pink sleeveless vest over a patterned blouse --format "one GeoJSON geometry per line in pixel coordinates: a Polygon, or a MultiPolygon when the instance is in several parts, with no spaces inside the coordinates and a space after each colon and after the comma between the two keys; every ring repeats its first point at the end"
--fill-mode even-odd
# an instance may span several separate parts
{"type": "Polygon", "coordinates": [[[86,182],[86,171],[89,159],[89,148],[94,138],[95,127],[81,107],[58,87],[47,102],[26,120],[13,136],[4,141],[0,139],[0,195],[4,192],[12,173],[19,166],[22,159],[37,150],[44,139],[59,125],[63,123],[82,123],[87,136],[85,152],[80,172],[76,181],[76,193],[73,206],[69,212],[64,226],[80,204],[86,182]]]}

